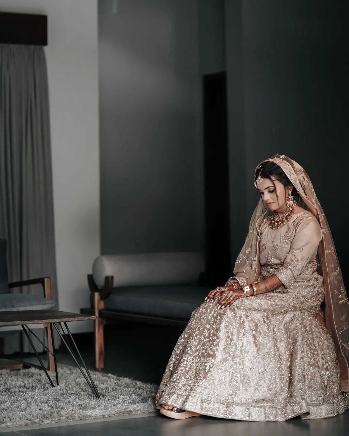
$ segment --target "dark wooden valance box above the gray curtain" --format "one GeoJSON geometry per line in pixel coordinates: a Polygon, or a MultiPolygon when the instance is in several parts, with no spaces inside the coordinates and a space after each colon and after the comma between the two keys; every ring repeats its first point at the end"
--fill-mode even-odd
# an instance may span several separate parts
{"type": "Polygon", "coordinates": [[[0,12],[0,44],[47,45],[47,15],[0,12]]]}

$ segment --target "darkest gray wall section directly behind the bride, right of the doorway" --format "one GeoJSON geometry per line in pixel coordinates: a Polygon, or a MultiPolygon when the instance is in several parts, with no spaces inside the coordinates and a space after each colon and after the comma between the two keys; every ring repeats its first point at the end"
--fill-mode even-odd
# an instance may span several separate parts
{"type": "Polygon", "coordinates": [[[347,4],[226,1],[232,216],[246,204],[244,224],[232,222],[234,261],[258,201],[254,169],[280,153],[311,178],[346,269],[347,4]]]}

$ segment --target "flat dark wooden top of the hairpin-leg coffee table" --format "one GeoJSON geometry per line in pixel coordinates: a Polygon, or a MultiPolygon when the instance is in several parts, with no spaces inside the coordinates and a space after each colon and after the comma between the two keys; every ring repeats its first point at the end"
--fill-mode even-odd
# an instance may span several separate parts
{"type": "Polygon", "coordinates": [[[95,315],[62,312],[61,310],[1,310],[0,327],[23,324],[61,323],[68,321],[94,320],[95,315]]]}

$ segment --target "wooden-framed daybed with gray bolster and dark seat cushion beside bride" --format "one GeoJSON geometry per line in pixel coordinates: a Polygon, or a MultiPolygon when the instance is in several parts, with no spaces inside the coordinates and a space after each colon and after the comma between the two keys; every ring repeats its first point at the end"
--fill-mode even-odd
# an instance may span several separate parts
{"type": "Polygon", "coordinates": [[[211,290],[205,263],[195,252],[98,256],[88,275],[90,307],[96,315],[95,365],[104,368],[103,326],[134,320],[185,327],[211,290]]]}

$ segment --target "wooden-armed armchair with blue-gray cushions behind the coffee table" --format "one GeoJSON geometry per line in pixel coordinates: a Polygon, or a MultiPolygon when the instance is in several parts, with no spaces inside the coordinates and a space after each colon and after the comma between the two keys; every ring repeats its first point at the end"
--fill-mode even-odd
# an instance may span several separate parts
{"type": "MultiPolygon", "coordinates": [[[[7,241],[0,239],[0,319],[1,312],[8,310],[39,310],[51,309],[55,306],[55,301],[51,300],[51,281],[49,277],[39,279],[23,280],[21,282],[8,283],[7,273],[7,241]],[[41,284],[44,296],[36,296],[23,293],[11,293],[11,289],[20,288],[21,286],[30,286],[41,284]]],[[[52,352],[51,335],[48,334],[49,324],[33,324],[31,330],[46,329],[48,335],[48,348],[52,352]]],[[[19,326],[0,327],[0,353],[3,354],[3,338],[5,336],[23,331],[19,326]]],[[[29,333],[30,334],[30,333],[29,333]]],[[[55,371],[53,356],[48,353],[48,369],[55,371]]],[[[0,359],[0,369],[17,369],[22,368],[23,364],[14,361],[0,359]]]]}

